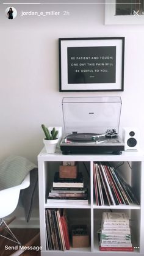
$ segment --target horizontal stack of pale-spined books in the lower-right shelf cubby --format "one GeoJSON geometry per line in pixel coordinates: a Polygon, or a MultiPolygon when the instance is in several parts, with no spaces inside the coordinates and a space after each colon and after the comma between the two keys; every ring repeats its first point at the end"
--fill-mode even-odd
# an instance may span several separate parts
{"type": "Polygon", "coordinates": [[[103,213],[99,235],[100,251],[134,251],[129,219],[125,213],[103,213]]]}

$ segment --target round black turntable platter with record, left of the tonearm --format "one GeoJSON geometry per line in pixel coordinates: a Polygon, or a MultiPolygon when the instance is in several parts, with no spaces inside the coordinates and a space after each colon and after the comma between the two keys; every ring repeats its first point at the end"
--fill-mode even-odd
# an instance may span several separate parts
{"type": "Polygon", "coordinates": [[[96,133],[74,133],[74,134],[69,134],[67,136],[67,139],[70,141],[82,141],[82,142],[92,142],[93,141],[93,136],[97,136],[99,134],[96,133]]]}

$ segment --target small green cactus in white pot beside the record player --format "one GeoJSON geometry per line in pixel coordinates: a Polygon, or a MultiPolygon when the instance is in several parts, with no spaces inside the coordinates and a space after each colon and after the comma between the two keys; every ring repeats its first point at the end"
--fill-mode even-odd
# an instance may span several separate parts
{"type": "Polygon", "coordinates": [[[45,139],[43,139],[43,143],[45,144],[46,152],[47,153],[54,153],[56,152],[58,138],[57,135],[59,131],[56,131],[54,127],[51,131],[45,125],[41,125],[43,132],[45,133],[45,139]]]}

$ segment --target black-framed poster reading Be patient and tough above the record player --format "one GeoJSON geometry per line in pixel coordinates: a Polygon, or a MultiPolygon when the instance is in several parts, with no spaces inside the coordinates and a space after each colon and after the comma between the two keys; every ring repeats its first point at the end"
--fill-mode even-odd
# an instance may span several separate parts
{"type": "Polygon", "coordinates": [[[123,91],[124,37],[59,38],[60,92],[123,91]]]}

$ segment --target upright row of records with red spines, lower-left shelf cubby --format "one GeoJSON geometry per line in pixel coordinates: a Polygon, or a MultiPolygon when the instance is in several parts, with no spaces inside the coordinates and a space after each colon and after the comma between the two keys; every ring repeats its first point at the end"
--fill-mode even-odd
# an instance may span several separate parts
{"type": "Polygon", "coordinates": [[[49,250],[70,250],[67,215],[63,209],[46,209],[46,247],[49,250]]]}

